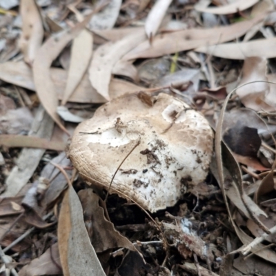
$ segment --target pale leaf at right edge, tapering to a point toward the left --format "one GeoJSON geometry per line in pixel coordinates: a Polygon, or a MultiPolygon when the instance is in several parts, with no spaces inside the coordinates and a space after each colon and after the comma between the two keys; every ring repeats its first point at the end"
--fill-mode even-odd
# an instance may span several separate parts
{"type": "MultiPolygon", "coordinates": [[[[220,42],[220,41],[219,41],[220,42]]],[[[275,52],[276,37],[271,39],[255,39],[253,41],[241,43],[224,43],[214,46],[201,46],[196,48],[196,52],[224,59],[246,59],[248,57],[264,57],[271,59],[276,57],[275,52]]]]}

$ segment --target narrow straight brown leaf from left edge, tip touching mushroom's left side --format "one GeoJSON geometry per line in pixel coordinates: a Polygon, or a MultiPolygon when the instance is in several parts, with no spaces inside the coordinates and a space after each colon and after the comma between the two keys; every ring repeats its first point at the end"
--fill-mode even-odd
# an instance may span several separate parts
{"type": "Polygon", "coordinates": [[[47,139],[25,135],[0,135],[0,145],[9,148],[45,148],[61,151],[66,148],[63,141],[48,141],[47,139]]]}

